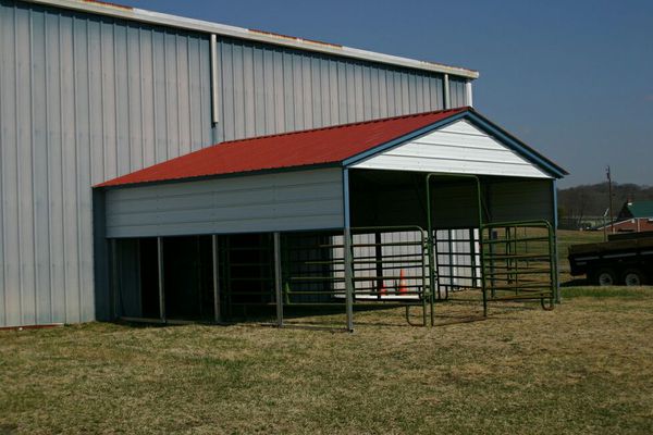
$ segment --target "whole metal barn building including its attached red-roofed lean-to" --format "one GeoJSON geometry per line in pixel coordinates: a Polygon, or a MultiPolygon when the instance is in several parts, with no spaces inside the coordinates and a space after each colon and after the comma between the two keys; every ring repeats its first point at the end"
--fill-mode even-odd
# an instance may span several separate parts
{"type": "Polygon", "coordinates": [[[473,71],[73,0],[0,60],[0,326],[555,296],[565,171],[473,71]]]}

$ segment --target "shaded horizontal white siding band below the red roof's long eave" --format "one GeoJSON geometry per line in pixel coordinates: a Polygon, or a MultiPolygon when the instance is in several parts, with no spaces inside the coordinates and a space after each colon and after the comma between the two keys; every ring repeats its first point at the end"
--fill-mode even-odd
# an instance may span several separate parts
{"type": "Polygon", "coordinates": [[[112,189],[107,236],[342,227],[342,170],[324,169],[112,189]]]}

